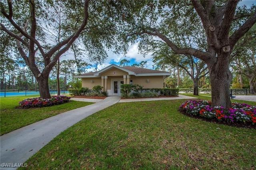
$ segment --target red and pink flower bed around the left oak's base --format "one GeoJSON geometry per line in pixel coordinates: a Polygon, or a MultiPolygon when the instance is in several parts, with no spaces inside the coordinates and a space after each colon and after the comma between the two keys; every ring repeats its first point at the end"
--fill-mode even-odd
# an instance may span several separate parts
{"type": "Polygon", "coordinates": [[[19,102],[20,106],[18,108],[28,109],[34,107],[46,107],[64,104],[70,100],[67,96],[52,96],[51,98],[28,98],[19,102]]]}

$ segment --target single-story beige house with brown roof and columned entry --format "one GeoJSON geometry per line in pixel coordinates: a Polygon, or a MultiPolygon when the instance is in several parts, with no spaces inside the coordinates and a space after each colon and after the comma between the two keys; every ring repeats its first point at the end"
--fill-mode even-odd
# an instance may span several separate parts
{"type": "Polygon", "coordinates": [[[90,72],[74,76],[82,78],[82,87],[92,89],[100,85],[102,91],[108,95],[120,95],[121,84],[139,84],[143,88],[163,88],[164,79],[170,76],[170,72],[151,70],[133,66],[118,66],[111,64],[97,72],[90,72]]]}

